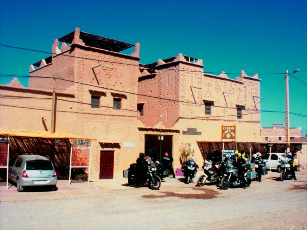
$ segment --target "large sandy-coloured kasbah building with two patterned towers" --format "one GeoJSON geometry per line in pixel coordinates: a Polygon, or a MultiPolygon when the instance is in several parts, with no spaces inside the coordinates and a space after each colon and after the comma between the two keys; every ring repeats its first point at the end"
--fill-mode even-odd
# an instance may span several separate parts
{"type": "Polygon", "coordinates": [[[122,177],[140,152],[153,151],[158,158],[171,153],[176,169],[182,143],[191,144],[202,165],[206,151],[221,150],[222,141],[239,150],[243,145],[234,143],[263,142],[257,74],[207,74],[201,59],[182,54],[143,65],[140,44],[130,55],[119,53],[133,46],[79,28],[56,39],[52,56],[30,65],[29,88],[16,78],[0,86],[0,129],[50,132],[55,82],[55,133],[95,139],[93,181],[122,177]],[[235,126],[235,140],[222,139],[227,125],[235,126]]]}

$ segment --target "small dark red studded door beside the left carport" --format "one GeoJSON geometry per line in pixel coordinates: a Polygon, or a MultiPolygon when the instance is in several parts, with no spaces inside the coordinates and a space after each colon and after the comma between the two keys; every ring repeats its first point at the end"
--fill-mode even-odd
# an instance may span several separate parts
{"type": "Polygon", "coordinates": [[[112,179],[114,151],[100,151],[99,179],[112,179]]]}

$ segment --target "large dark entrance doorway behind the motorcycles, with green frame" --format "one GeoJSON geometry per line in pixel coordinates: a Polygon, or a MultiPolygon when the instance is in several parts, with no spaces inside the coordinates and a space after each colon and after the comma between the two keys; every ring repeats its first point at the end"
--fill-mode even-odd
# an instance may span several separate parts
{"type": "Polygon", "coordinates": [[[165,152],[172,155],[172,148],[173,136],[145,134],[145,155],[151,152],[153,157],[161,162],[165,152]]]}

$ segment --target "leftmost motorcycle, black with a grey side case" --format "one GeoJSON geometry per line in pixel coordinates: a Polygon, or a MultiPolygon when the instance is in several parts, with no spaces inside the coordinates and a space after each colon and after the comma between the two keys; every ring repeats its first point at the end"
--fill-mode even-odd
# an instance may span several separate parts
{"type": "MultiPolygon", "coordinates": [[[[146,161],[146,175],[141,180],[142,186],[148,186],[150,189],[158,190],[161,187],[161,179],[156,174],[157,167],[153,162],[146,161]]],[[[130,164],[130,168],[123,171],[123,177],[128,178],[130,187],[135,187],[137,183],[136,164],[130,164]]]]}

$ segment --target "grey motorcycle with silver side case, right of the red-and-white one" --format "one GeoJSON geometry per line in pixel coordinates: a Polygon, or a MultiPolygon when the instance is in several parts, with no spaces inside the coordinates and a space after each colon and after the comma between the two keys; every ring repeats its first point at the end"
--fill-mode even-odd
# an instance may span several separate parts
{"type": "MultiPolygon", "coordinates": [[[[233,166],[226,168],[226,176],[222,178],[221,185],[223,190],[229,189],[230,185],[239,186],[241,185],[241,175],[239,169],[233,166]]],[[[244,178],[246,181],[246,187],[251,185],[251,178],[255,178],[255,171],[251,171],[251,168],[247,168],[244,172],[244,178]]]]}

